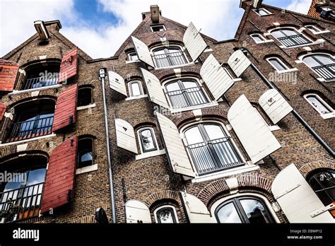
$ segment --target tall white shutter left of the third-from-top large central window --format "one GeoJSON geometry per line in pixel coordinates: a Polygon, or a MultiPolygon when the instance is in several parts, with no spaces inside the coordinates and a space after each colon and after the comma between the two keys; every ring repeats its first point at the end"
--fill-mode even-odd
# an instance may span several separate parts
{"type": "Polygon", "coordinates": [[[195,177],[192,164],[189,162],[177,127],[170,119],[161,115],[159,112],[155,112],[155,114],[158,119],[160,132],[163,136],[165,151],[173,172],[195,177]]]}

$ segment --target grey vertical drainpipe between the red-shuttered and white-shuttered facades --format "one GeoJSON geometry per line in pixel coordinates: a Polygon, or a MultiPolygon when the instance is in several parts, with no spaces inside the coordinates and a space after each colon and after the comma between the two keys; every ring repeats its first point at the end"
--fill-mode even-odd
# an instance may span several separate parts
{"type": "Polygon", "coordinates": [[[106,146],[107,146],[107,160],[108,160],[108,175],[110,177],[110,199],[111,199],[111,207],[112,207],[112,218],[113,218],[113,223],[117,223],[117,216],[115,213],[115,201],[114,201],[112,161],[110,158],[110,133],[108,131],[109,127],[108,127],[107,103],[106,103],[106,95],[105,95],[105,77],[106,77],[106,69],[99,69],[99,79],[101,81],[101,86],[102,86],[102,100],[103,100],[103,109],[104,109],[104,116],[105,116],[106,146]]]}

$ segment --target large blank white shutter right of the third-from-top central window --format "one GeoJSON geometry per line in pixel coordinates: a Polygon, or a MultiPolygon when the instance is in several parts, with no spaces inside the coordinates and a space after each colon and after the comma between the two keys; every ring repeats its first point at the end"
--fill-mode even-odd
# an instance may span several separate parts
{"type": "Polygon", "coordinates": [[[230,107],[228,120],[253,163],[281,148],[264,119],[244,94],[230,107]]]}

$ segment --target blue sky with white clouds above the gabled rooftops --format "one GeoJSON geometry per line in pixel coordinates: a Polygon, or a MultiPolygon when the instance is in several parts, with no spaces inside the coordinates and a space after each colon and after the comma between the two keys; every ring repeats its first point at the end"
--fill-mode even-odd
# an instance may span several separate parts
{"type": "MultiPolygon", "coordinates": [[[[311,0],[263,2],[307,13],[311,0]]],[[[59,20],[60,32],[90,57],[111,57],[153,4],[163,16],[192,21],[216,40],[234,37],[243,13],[239,0],[0,0],[0,57],[33,35],[37,20],[59,20]]]]}

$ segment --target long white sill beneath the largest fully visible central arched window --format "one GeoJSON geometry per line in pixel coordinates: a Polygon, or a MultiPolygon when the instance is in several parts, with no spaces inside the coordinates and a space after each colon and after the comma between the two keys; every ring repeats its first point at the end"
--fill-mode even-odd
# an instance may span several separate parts
{"type": "Polygon", "coordinates": [[[216,180],[221,177],[227,177],[231,175],[237,175],[242,172],[251,172],[259,169],[259,165],[242,165],[241,167],[223,170],[221,172],[213,172],[208,175],[198,176],[192,179],[192,183],[204,182],[208,180],[216,180]]]}

